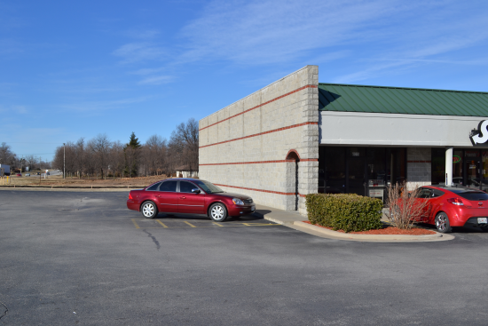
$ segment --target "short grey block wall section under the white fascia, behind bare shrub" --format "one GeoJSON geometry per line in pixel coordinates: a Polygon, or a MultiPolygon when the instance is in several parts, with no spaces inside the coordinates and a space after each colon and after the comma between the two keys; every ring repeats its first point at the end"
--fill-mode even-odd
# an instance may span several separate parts
{"type": "Polygon", "coordinates": [[[428,186],[432,180],[432,157],[430,147],[406,148],[406,179],[408,189],[428,186]]]}

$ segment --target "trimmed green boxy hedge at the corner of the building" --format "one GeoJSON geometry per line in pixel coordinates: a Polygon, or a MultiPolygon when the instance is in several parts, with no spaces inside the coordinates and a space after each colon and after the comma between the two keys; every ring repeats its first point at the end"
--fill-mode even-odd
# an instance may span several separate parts
{"type": "Polygon", "coordinates": [[[305,200],[311,224],[344,232],[382,228],[380,199],[356,194],[310,194],[305,200]]]}

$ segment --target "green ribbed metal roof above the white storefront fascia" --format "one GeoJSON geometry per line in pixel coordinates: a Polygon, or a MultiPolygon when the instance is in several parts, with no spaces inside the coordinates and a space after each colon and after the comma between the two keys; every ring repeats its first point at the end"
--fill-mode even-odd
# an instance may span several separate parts
{"type": "Polygon", "coordinates": [[[488,92],[319,83],[319,110],[488,116],[488,92]]]}

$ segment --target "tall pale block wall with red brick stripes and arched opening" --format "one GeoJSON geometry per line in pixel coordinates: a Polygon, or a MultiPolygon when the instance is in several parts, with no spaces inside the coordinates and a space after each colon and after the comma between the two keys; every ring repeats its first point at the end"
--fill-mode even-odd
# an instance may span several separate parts
{"type": "Polygon", "coordinates": [[[256,203],[295,210],[295,150],[299,211],[317,192],[319,68],[306,66],[199,122],[201,179],[256,203]]]}

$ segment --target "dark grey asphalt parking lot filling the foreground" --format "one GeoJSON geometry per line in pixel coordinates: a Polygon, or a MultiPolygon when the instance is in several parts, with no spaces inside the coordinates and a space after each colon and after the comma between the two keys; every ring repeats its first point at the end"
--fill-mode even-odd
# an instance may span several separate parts
{"type": "Polygon", "coordinates": [[[487,323],[488,234],[347,242],[126,198],[0,191],[0,325],[487,323]]]}

